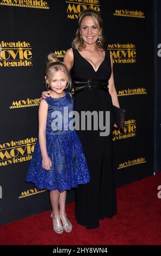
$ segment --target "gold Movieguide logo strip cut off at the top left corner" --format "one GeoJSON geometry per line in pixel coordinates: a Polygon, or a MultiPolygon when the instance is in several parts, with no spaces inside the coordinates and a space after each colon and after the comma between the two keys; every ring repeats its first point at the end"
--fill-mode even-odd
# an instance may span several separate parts
{"type": "Polygon", "coordinates": [[[0,0],[0,5],[49,9],[47,2],[43,0],[0,0]]]}

